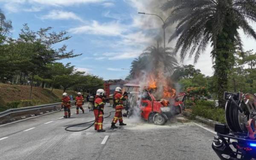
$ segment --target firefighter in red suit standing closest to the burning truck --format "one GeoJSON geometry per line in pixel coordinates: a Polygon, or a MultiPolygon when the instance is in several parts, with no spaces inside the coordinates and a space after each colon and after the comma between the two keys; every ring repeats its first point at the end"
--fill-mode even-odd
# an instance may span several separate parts
{"type": "Polygon", "coordinates": [[[121,87],[116,87],[116,91],[113,95],[113,98],[114,98],[114,107],[116,109],[116,113],[112,120],[111,128],[117,128],[116,127],[117,121],[119,121],[119,125],[126,125],[125,123],[123,123],[123,120],[122,120],[122,109],[125,109],[123,107],[123,101],[125,101],[128,98],[128,95],[127,93],[122,94],[121,87]]]}

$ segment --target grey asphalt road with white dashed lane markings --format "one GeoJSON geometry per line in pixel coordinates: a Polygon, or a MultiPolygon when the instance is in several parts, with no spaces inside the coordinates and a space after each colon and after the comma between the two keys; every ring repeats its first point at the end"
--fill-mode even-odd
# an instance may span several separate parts
{"type": "MultiPolygon", "coordinates": [[[[109,111],[113,108],[105,107],[105,116],[109,111]]],[[[69,125],[94,119],[88,109],[75,112],[72,108],[70,119],[62,118],[61,111],[0,126],[0,160],[218,160],[211,148],[214,134],[202,124],[172,120],[157,126],[124,118],[127,126],[112,130],[112,113],[104,119],[105,133],[94,127],[65,131],[69,125]]]]}

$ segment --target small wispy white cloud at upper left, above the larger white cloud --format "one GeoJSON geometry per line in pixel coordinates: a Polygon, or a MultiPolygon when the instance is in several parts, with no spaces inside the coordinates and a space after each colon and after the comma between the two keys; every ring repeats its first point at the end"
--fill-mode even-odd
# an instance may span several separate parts
{"type": "Polygon", "coordinates": [[[48,15],[44,15],[41,17],[42,19],[52,19],[52,20],[79,20],[83,22],[81,17],[77,16],[73,12],[65,12],[65,11],[60,11],[60,10],[53,10],[49,12],[48,15]]]}

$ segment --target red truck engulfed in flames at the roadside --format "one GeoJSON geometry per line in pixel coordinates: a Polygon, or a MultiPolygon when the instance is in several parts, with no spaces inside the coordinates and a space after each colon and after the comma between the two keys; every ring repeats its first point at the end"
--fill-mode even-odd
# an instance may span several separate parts
{"type": "MultiPolygon", "coordinates": [[[[168,119],[183,112],[186,102],[186,94],[179,93],[173,88],[164,88],[163,97],[157,99],[157,83],[153,81],[148,87],[140,87],[138,84],[127,83],[123,85],[129,92],[129,99],[125,102],[126,111],[123,116],[141,116],[155,125],[164,125],[168,119]]],[[[113,96],[109,96],[113,99],[113,96]]],[[[113,102],[113,101],[110,101],[113,102]]]]}

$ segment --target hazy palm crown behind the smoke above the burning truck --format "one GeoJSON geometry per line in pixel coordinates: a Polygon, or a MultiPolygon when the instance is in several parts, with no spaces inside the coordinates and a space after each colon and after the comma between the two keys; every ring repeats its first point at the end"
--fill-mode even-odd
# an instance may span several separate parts
{"type": "Polygon", "coordinates": [[[177,65],[178,62],[175,58],[175,53],[172,52],[172,48],[163,49],[157,44],[157,46],[146,48],[138,58],[132,61],[130,75],[127,79],[137,78],[142,71],[154,73],[155,75],[159,71],[163,71],[171,76],[177,65]]]}

